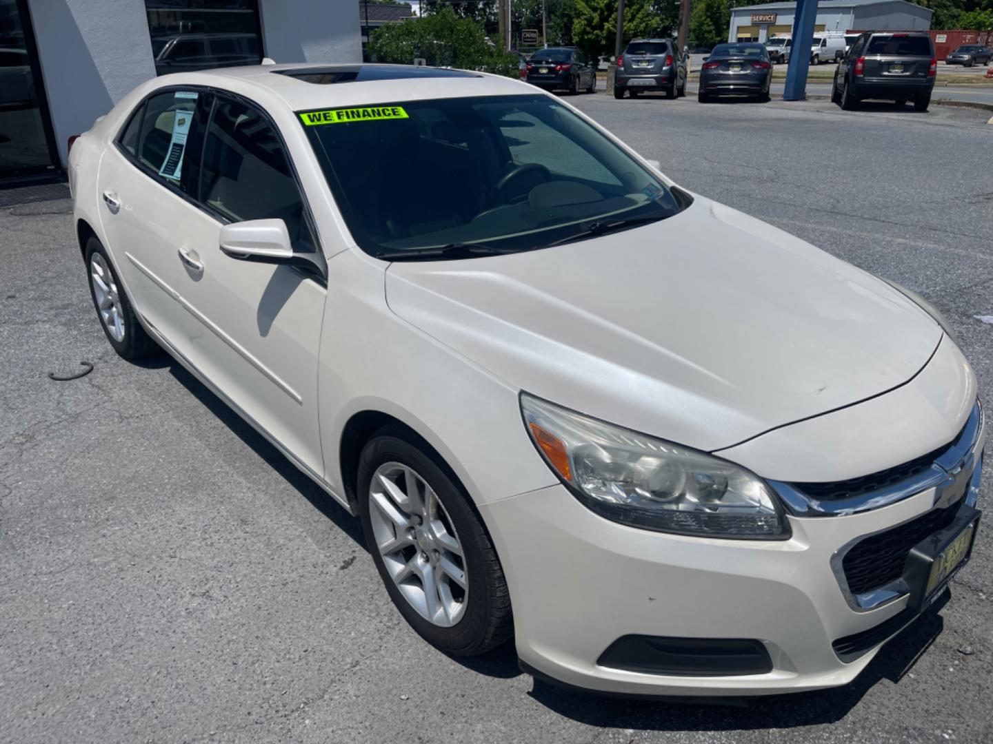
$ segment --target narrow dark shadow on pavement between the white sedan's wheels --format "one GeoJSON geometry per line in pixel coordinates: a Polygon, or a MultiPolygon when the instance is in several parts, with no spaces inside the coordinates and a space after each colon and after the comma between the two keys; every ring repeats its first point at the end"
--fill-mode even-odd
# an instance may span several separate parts
{"type": "Polygon", "coordinates": [[[261,457],[269,467],[279,473],[315,509],[334,522],[335,526],[343,533],[352,538],[358,547],[368,552],[368,549],[365,547],[365,540],[362,537],[361,524],[355,517],[346,512],[345,508],[335,501],[331,494],[327,493],[317,483],[301,472],[268,439],[256,432],[233,409],[217,398],[200,380],[190,374],[182,364],[168,359],[162,366],[170,366],[170,372],[173,377],[190,391],[190,393],[196,396],[204,404],[205,408],[217,417],[224,426],[251,447],[255,454],[261,457]]]}

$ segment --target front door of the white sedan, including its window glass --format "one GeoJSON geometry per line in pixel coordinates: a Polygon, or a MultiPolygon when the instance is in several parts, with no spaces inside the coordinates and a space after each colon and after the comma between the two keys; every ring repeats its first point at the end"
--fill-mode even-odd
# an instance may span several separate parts
{"type": "Polygon", "coordinates": [[[225,222],[282,219],[293,248],[319,255],[289,156],[268,118],[217,95],[197,186],[202,209],[184,232],[193,265],[176,286],[196,318],[194,363],[232,403],[321,476],[317,360],[324,277],[290,266],[241,261],[219,247],[225,222]]]}

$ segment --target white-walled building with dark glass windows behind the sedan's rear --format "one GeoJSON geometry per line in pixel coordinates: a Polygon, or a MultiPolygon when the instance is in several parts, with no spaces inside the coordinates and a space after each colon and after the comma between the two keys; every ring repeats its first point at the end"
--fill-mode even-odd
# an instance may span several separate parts
{"type": "Polygon", "coordinates": [[[62,174],[68,140],[157,74],[360,62],[355,0],[0,0],[0,186],[62,174]]]}

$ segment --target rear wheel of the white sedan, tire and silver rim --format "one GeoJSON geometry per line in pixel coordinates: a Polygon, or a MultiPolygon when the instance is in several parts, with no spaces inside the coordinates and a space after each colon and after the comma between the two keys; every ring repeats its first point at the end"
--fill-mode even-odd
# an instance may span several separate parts
{"type": "Polygon", "coordinates": [[[106,249],[95,237],[86,241],[86,270],[89,296],[100,327],[118,356],[136,361],[162,351],[138,321],[134,308],[117,275],[106,249]]]}

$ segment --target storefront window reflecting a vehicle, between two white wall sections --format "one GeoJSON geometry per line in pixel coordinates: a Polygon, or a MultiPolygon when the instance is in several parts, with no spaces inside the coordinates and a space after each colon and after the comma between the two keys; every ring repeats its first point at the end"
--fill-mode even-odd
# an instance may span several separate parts
{"type": "Polygon", "coordinates": [[[262,61],[256,0],[145,0],[158,74],[262,61]]]}

